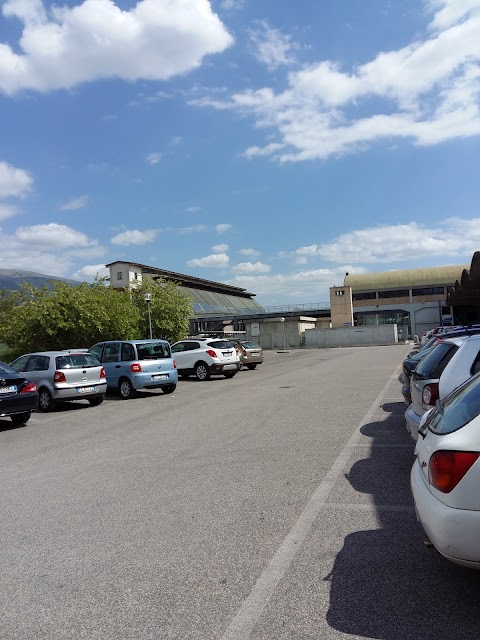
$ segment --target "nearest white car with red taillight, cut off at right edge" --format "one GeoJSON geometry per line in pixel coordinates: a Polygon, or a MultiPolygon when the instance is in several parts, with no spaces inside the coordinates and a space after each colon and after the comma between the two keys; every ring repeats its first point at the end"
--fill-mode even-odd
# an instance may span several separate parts
{"type": "Polygon", "coordinates": [[[447,560],[480,569],[480,374],[422,420],[410,484],[433,546],[447,560]]]}

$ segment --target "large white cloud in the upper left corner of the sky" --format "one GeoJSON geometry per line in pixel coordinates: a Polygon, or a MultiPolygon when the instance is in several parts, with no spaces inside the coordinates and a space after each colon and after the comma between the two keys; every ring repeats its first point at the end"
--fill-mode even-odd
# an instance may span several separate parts
{"type": "Polygon", "coordinates": [[[112,0],[6,0],[2,11],[22,24],[14,47],[0,43],[0,91],[9,95],[100,78],[166,80],[233,42],[208,0],[139,0],[130,11],[112,0]]]}

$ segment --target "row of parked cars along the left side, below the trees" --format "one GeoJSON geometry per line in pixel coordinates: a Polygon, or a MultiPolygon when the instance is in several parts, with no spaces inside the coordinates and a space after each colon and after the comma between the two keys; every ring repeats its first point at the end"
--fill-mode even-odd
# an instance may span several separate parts
{"type": "Polygon", "coordinates": [[[88,400],[97,406],[107,389],[124,399],[140,389],[173,393],[178,376],[233,378],[245,365],[255,369],[263,350],[248,340],[189,338],[106,340],[89,349],[28,353],[10,365],[0,363],[0,417],[23,424],[32,411],[52,411],[57,402],[88,400]],[[28,402],[27,402],[28,400],[28,402]]]}

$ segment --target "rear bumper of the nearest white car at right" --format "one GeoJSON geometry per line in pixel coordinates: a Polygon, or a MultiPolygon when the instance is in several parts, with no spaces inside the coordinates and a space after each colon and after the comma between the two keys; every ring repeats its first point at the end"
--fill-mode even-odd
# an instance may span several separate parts
{"type": "Polygon", "coordinates": [[[433,546],[455,564],[480,569],[480,511],[453,509],[429,490],[418,460],[410,474],[417,519],[433,546]]]}

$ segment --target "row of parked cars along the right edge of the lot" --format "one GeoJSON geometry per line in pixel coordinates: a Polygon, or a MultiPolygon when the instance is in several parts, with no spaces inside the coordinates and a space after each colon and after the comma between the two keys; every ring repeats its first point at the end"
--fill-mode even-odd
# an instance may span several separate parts
{"type": "MultiPolygon", "coordinates": [[[[406,362],[409,364],[406,365],[406,362]]],[[[432,545],[456,564],[480,569],[480,329],[437,333],[410,371],[406,427],[415,440],[410,484],[432,545]]]]}

